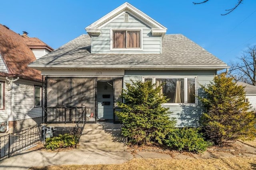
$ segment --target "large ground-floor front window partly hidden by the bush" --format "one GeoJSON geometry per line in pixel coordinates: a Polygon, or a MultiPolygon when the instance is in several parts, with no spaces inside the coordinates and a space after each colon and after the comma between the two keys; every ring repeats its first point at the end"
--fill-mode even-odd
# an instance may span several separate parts
{"type": "MultiPolygon", "coordinates": [[[[144,78],[148,81],[150,78],[144,78]]],[[[151,80],[151,79],[150,79],[151,80]]],[[[196,78],[152,78],[156,86],[162,84],[160,95],[167,96],[170,104],[195,104],[196,103],[196,78]]]]}

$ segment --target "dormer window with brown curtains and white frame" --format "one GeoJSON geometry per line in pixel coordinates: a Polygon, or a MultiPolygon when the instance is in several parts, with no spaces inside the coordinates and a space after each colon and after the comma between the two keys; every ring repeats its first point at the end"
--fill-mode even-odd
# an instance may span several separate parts
{"type": "Polygon", "coordinates": [[[142,30],[140,29],[112,29],[110,40],[112,50],[141,50],[142,30]]]}

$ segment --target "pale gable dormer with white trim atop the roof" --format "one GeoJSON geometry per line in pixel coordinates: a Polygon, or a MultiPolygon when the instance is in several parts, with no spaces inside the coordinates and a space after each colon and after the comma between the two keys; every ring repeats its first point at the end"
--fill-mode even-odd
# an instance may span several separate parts
{"type": "Polygon", "coordinates": [[[85,28],[91,53],[160,54],[167,28],[127,2],[85,28]]]}

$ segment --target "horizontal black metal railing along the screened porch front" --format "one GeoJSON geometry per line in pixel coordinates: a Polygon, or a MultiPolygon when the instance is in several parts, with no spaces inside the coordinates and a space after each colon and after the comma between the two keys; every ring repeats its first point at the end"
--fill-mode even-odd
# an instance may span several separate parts
{"type": "Polygon", "coordinates": [[[47,107],[47,123],[77,123],[84,107],[47,107]]]}

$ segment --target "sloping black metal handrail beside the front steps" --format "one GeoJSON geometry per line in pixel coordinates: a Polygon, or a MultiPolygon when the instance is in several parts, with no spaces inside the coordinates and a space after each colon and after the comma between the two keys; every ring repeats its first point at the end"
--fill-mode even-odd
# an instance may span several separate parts
{"type": "Polygon", "coordinates": [[[83,107],[82,115],[79,117],[78,122],[76,123],[76,126],[73,129],[73,133],[74,135],[76,135],[76,143],[79,143],[82,131],[84,130],[84,126],[86,124],[86,114],[87,109],[86,107],[83,107]]]}

